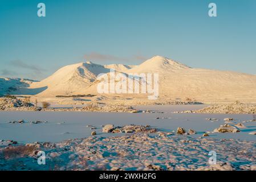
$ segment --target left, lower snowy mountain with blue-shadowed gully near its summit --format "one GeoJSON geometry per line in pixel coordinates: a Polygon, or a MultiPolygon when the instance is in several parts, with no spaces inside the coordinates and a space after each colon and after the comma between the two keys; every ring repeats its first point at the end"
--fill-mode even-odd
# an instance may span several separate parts
{"type": "Polygon", "coordinates": [[[84,94],[100,73],[109,73],[111,69],[126,72],[135,66],[123,64],[100,65],[91,61],[67,65],[40,82],[31,84],[31,88],[47,87],[40,96],[66,96],[84,94]]]}

